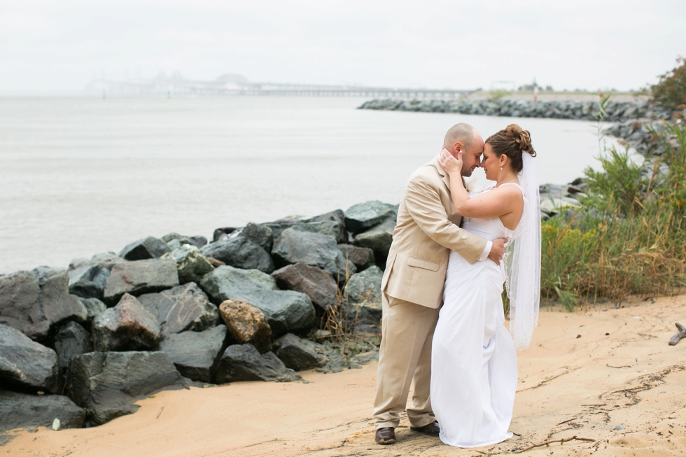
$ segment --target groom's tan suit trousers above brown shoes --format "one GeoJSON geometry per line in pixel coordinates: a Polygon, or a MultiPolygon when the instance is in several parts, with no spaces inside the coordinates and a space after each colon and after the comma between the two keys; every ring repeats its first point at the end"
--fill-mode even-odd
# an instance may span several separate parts
{"type": "Polygon", "coordinates": [[[407,408],[407,419],[413,427],[426,426],[436,420],[429,388],[431,342],[439,310],[388,297],[385,293],[381,294],[381,303],[383,322],[374,399],[375,426],[398,426],[413,379],[412,407],[407,408]]]}

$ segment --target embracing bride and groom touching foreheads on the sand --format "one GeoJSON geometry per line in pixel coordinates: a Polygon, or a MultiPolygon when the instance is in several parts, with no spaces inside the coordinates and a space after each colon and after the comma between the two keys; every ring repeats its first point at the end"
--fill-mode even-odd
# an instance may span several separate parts
{"type": "Polygon", "coordinates": [[[451,127],[443,150],[412,174],[381,282],[374,400],[379,444],[395,442],[412,381],[410,429],[451,446],[512,436],[517,354],[538,321],[540,204],[531,136],[509,125],[486,141],[451,127]],[[496,183],[468,192],[483,167],[496,183]],[[510,298],[505,328],[501,293],[510,298]]]}

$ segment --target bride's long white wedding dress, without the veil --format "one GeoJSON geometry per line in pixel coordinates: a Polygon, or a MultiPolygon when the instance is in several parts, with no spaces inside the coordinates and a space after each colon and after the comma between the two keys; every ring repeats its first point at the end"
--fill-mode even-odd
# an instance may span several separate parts
{"type": "MultiPolygon", "coordinates": [[[[497,217],[464,218],[463,228],[491,241],[513,235],[497,217]]],[[[470,265],[450,253],[431,354],[431,406],[445,444],[479,447],[512,436],[517,353],[504,325],[504,281],[502,262],[470,265]]]]}

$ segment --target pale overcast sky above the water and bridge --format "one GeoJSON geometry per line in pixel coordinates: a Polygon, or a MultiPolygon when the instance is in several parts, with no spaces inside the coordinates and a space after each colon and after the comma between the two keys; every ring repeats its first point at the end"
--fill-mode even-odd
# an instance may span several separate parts
{"type": "Polygon", "coordinates": [[[686,1],[0,0],[0,92],[214,79],[629,90],[686,56],[686,1]]]}

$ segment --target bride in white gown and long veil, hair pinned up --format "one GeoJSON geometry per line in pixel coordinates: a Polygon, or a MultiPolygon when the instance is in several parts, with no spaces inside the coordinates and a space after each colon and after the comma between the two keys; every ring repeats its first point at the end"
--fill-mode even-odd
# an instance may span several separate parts
{"type": "Polygon", "coordinates": [[[470,265],[451,251],[444,304],[433,337],[431,404],[440,439],[456,447],[495,444],[512,436],[517,354],[531,341],[540,290],[540,203],[531,136],[508,125],[486,139],[482,166],[495,185],[468,193],[462,153],[447,150],[440,164],[450,176],[463,228],[486,239],[507,238],[501,266],[470,265]],[[510,297],[510,331],[501,293],[510,297]]]}

